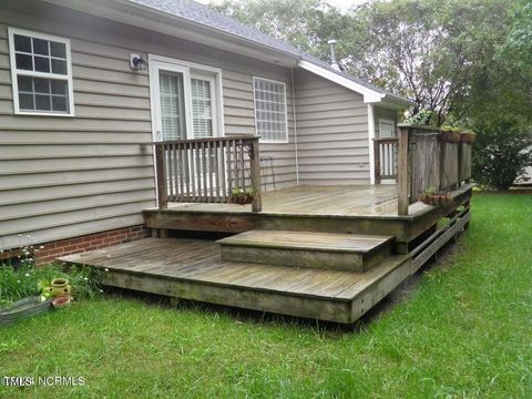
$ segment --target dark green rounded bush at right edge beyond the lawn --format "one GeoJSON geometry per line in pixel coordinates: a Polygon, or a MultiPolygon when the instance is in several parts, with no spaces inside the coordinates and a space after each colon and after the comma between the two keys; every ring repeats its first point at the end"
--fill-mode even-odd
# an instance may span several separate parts
{"type": "Polygon", "coordinates": [[[473,127],[472,177],[484,188],[508,190],[532,164],[532,131],[513,121],[473,127]]]}

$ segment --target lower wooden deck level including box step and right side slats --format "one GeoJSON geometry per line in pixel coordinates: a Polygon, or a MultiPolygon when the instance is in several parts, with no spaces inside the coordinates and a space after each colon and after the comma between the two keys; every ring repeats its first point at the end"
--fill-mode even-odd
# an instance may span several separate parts
{"type": "MultiPolygon", "coordinates": [[[[440,228],[424,229],[423,241],[406,254],[391,250],[389,245],[393,238],[387,236],[255,229],[219,242],[147,238],[59,260],[104,270],[101,283],[109,286],[347,324],[357,320],[459,232],[467,229],[470,195],[470,188],[458,192],[452,208],[431,209],[429,221],[448,215],[448,223],[440,228]],[[270,237],[267,243],[262,238],[264,233],[270,237]],[[272,238],[275,234],[278,237],[272,238]],[[260,239],[257,242],[254,237],[260,239]],[[221,245],[228,243],[250,249],[236,254],[236,258],[229,253],[227,259],[221,245]],[[380,248],[379,252],[371,254],[376,248],[380,248]],[[279,250],[291,253],[279,256],[279,250]],[[323,253],[326,257],[320,258],[323,253]],[[351,258],[338,259],[339,255],[351,258]],[[367,255],[370,258],[360,262],[367,262],[368,268],[352,267],[359,262],[357,256],[367,255]],[[301,267],[298,262],[310,264],[301,267]],[[348,270],[342,268],[346,263],[348,270]]],[[[316,223],[315,218],[311,221],[316,223]]]]}

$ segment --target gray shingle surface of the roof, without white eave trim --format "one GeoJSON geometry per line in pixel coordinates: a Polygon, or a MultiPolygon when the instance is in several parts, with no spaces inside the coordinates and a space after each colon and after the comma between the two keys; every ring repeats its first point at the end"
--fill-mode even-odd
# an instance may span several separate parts
{"type": "Polygon", "coordinates": [[[216,12],[209,7],[201,4],[196,1],[193,1],[193,0],[130,0],[130,1],[136,4],[141,4],[161,12],[165,12],[165,13],[185,19],[185,20],[190,20],[191,22],[218,29],[223,32],[231,33],[231,34],[241,37],[243,39],[256,42],[258,44],[273,48],[277,51],[293,54],[296,58],[300,58],[320,68],[327,69],[365,88],[371,89],[382,94],[389,94],[395,98],[401,99],[390,92],[387,92],[386,90],[379,86],[368,83],[349,73],[337,71],[334,68],[331,68],[327,62],[324,62],[317,59],[316,57],[307,54],[283,40],[265,34],[256,28],[238,22],[237,20],[229,18],[227,16],[224,16],[219,12],[216,12]]]}

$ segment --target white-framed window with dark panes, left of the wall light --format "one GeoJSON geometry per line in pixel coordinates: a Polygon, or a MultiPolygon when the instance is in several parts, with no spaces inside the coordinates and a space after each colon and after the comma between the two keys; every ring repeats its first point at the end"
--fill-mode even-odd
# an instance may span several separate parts
{"type": "Polygon", "coordinates": [[[73,116],[68,39],[9,28],[16,114],[73,116]]]}

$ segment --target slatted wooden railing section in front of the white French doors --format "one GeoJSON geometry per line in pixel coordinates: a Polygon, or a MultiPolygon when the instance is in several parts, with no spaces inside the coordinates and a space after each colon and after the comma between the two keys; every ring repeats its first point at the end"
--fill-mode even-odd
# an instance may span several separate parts
{"type": "Polygon", "coordinates": [[[252,188],[260,212],[258,137],[213,137],[154,143],[158,207],[227,203],[234,188],[252,188]]]}

